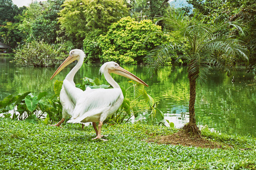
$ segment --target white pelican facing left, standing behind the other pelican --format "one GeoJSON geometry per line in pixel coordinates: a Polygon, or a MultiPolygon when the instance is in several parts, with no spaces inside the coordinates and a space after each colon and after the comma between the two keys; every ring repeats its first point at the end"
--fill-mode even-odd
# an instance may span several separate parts
{"type": "MultiPolygon", "coordinates": [[[[73,69],[68,73],[68,75],[65,77],[64,80],[69,82],[70,86],[69,88],[72,88],[72,94],[68,94],[67,91],[64,88],[64,85],[61,88],[60,91],[60,103],[63,107],[62,110],[62,119],[56,124],[51,126],[60,126],[66,118],[71,117],[73,110],[76,105],[76,101],[79,97],[79,95],[82,93],[82,90],[80,88],[77,88],[74,83],[74,76],[77,73],[77,71],[82,66],[82,63],[84,62],[85,54],[80,49],[73,49],[69,52],[69,56],[65,61],[59,66],[59,68],[55,71],[55,73],[52,75],[51,79],[53,79],[58,73],[60,73],[61,70],[64,69],[67,65],[72,63],[73,61],[77,60],[77,64],[73,69]]],[[[84,126],[82,125],[82,128],[84,126]]],[[[61,126],[60,126],[61,128],[61,126]]]]}

